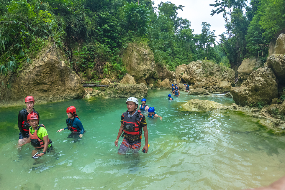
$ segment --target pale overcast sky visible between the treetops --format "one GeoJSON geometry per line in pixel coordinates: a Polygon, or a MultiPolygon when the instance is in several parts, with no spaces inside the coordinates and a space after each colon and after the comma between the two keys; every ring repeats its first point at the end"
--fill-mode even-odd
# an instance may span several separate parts
{"type": "MultiPolygon", "coordinates": [[[[211,17],[212,9],[215,9],[213,6],[210,6],[209,4],[215,4],[215,1],[202,1],[202,0],[186,0],[186,1],[180,1],[180,0],[168,0],[171,3],[175,4],[176,6],[183,5],[183,11],[178,10],[179,17],[182,17],[183,19],[188,19],[191,22],[190,29],[194,29],[193,34],[199,34],[202,30],[202,22],[207,22],[208,24],[211,24],[210,31],[215,31],[215,36],[217,36],[216,41],[219,41],[220,37],[219,35],[223,32],[226,32],[225,29],[225,21],[223,18],[222,13],[214,14],[213,17],[211,17]]],[[[161,0],[155,0],[154,5],[158,7],[157,5],[160,4],[161,0]]],[[[166,2],[166,1],[163,1],[166,2]]],[[[248,1],[249,4],[249,1],[248,1]]]]}

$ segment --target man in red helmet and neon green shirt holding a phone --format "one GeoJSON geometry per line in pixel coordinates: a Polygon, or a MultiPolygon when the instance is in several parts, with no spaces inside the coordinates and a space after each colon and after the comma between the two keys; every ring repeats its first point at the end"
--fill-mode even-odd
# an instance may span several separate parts
{"type": "Polygon", "coordinates": [[[43,156],[48,148],[52,147],[51,140],[48,138],[48,132],[44,125],[39,125],[39,117],[36,113],[29,113],[27,116],[28,123],[31,125],[29,128],[29,138],[21,146],[27,143],[31,143],[37,151],[42,153],[37,156],[43,156]]]}

